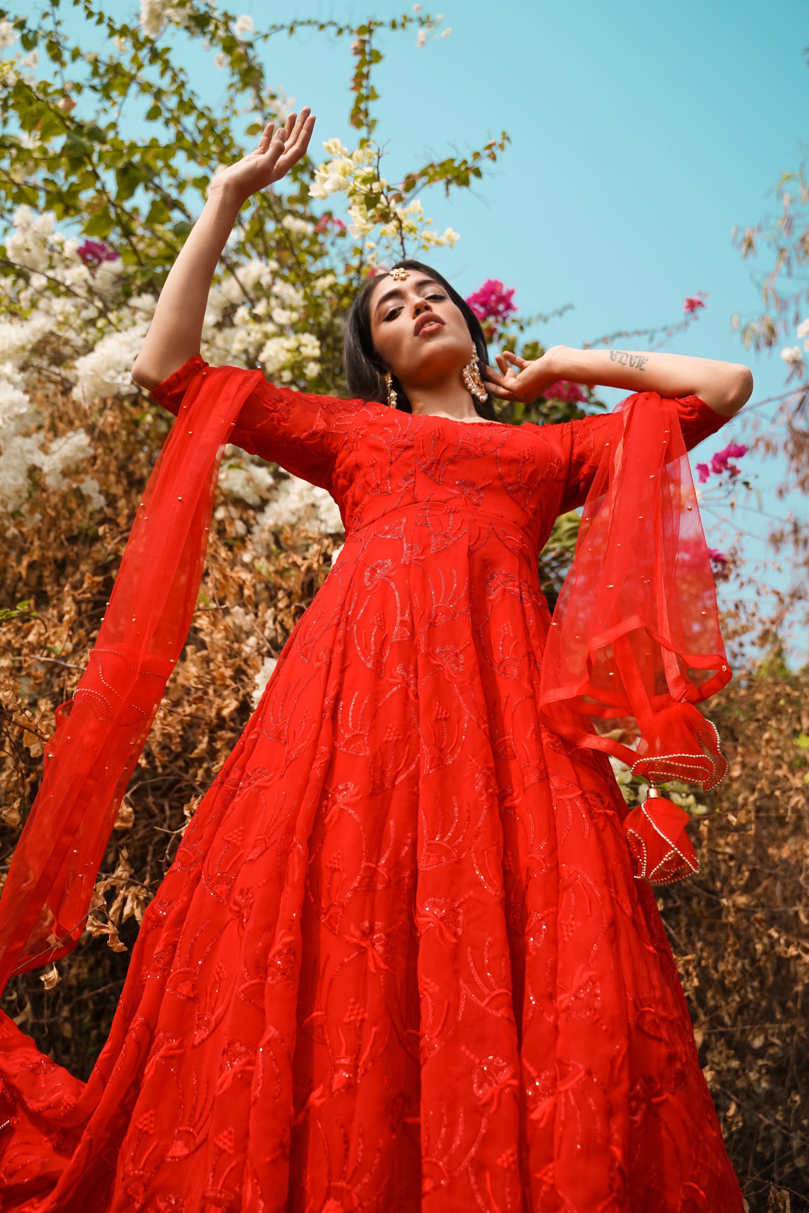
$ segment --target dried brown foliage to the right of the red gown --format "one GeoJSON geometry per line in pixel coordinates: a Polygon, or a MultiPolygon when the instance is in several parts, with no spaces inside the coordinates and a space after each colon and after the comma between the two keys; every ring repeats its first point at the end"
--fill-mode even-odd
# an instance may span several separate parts
{"type": "Polygon", "coordinates": [[[711,704],[729,776],[662,890],[728,1151],[751,1209],[809,1203],[809,677],[739,678],[711,704]],[[781,1195],[779,1196],[779,1192],[781,1195]],[[780,1203],[779,1203],[780,1201],[780,1203]]]}

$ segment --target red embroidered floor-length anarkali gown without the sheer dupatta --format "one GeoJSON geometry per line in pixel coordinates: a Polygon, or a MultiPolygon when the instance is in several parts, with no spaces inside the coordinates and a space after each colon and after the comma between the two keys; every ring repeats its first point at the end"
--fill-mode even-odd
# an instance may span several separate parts
{"type": "MultiPolygon", "coordinates": [[[[181,410],[203,365],[155,398],[181,410]]],[[[722,422],[676,408],[689,446],[722,422]]],[[[90,1081],[4,1020],[2,1213],[741,1209],[608,759],[537,708],[537,551],[619,421],[255,387],[229,440],[327,488],[346,546],[90,1081]]]]}

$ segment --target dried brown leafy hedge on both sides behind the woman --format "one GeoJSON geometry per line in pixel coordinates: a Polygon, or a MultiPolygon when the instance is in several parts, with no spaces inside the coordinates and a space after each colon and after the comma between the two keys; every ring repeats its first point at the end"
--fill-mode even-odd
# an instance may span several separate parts
{"type": "MultiPolygon", "coordinates": [[[[65,402],[59,415],[65,427],[76,423],[73,408],[65,402]]],[[[166,428],[143,402],[118,402],[97,420],[101,520],[79,492],[42,492],[40,517],[12,519],[0,554],[4,876],[53,707],[85,665],[166,428]]],[[[287,530],[257,559],[252,522],[243,502],[217,501],[200,605],[119,814],[89,930],[56,969],[15,979],[5,996],[38,1046],[81,1076],[108,1032],[143,907],[250,714],[256,674],[341,541],[287,530]]],[[[694,822],[699,877],[661,890],[659,904],[748,1206],[801,1209],[809,1207],[809,678],[739,678],[711,714],[730,776],[708,798],[720,811],[694,822]]]]}

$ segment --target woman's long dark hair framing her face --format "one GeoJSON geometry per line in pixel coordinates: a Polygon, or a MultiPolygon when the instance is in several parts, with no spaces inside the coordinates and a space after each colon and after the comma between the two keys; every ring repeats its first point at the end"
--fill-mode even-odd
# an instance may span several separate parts
{"type": "MultiPolygon", "coordinates": [[[[444,287],[466,320],[469,336],[472,337],[474,348],[478,352],[478,363],[482,368],[488,366],[489,353],[486,351],[486,338],[483,335],[480,321],[467,301],[458,295],[455,287],[450,286],[441,274],[434,270],[431,266],[425,266],[421,261],[399,261],[392,268],[412,269],[416,273],[423,274],[426,278],[432,278],[433,281],[444,287]]],[[[348,382],[348,391],[352,398],[358,400],[384,402],[387,399],[384,376],[389,368],[382,360],[382,357],[377,353],[374,346],[370,317],[371,295],[380,285],[382,277],[382,274],[378,274],[376,278],[371,278],[371,280],[368,281],[359,292],[351,306],[343,332],[343,366],[346,369],[346,380],[348,382]]],[[[395,375],[393,376],[393,388],[397,393],[397,409],[401,412],[412,412],[410,400],[405,395],[404,388],[395,375]]],[[[472,397],[472,402],[474,404],[474,411],[479,417],[486,417],[489,421],[497,420],[490,395],[486,395],[486,399],[483,402],[472,397]]]]}

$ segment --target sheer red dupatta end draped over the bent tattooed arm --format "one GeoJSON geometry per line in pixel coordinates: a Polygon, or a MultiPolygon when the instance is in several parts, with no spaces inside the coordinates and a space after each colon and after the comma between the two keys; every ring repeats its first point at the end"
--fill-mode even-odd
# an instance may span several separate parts
{"type": "Polygon", "coordinates": [[[542,664],[543,723],[651,782],[707,790],[727,762],[694,706],[730,679],[713,574],[673,400],[629,397],[605,444],[542,664]],[[634,717],[637,750],[592,729],[634,717]]]}

